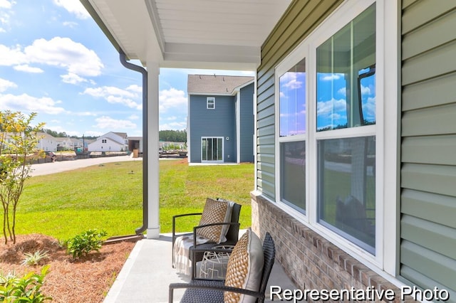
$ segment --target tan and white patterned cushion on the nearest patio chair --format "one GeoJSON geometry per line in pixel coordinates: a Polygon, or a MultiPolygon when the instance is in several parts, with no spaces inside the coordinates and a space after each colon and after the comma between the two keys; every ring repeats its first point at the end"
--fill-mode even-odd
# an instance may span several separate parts
{"type": "MultiPolygon", "coordinates": [[[[225,286],[258,292],[263,275],[264,253],[261,240],[248,229],[234,246],[227,265],[225,286]]],[[[256,302],[257,298],[235,292],[224,292],[224,302],[256,302]]]]}

